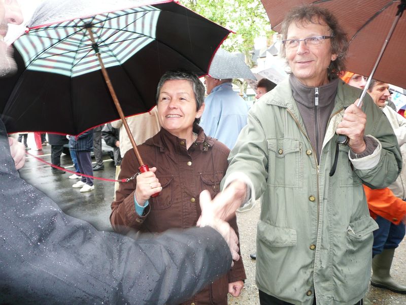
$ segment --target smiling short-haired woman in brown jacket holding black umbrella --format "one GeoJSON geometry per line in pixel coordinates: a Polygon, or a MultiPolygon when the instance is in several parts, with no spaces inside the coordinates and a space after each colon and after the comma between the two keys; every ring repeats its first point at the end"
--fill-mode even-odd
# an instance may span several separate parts
{"type": "MultiPolygon", "coordinates": [[[[201,212],[200,192],[209,190],[212,197],[219,192],[229,149],[197,125],[205,108],[204,94],[205,88],[194,74],[168,71],[162,76],[156,96],[162,129],[138,146],[151,169],[137,180],[120,183],[110,215],[115,231],[160,233],[195,226],[201,212]],[[151,197],[157,192],[159,196],[151,197]]],[[[119,178],[131,177],[139,166],[133,150],[128,150],[119,178]]],[[[229,223],[238,235],[235,216],[229,223]]],[[[183,304],[227,304],[227,292],[240,295],[245,279],[240,257],[226,276],[183,304]]]]}

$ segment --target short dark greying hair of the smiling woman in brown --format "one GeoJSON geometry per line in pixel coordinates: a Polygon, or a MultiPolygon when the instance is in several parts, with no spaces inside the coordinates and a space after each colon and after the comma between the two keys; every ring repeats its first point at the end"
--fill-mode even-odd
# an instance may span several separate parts
{"type": "MultiPolygon", "coordinates": [[[[156,88],[156,104],[158,104],[161,88],[167,80],[188,80],[192,86],[194,99],[196,100],[196,110],[200,109],[205,102],[205,86],[195,73],[186,70],[169,70],[162,75],[156,88]]],[[[194,120],[194,124],[199,124],[199,122],[200,118],[194,120]]]]}

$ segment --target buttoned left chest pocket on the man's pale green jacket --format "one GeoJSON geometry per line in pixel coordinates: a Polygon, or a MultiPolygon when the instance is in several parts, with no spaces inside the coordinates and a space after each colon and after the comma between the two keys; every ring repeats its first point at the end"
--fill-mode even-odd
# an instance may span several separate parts
{"type": "Polygon", "coordinates": [[[272,186],[302,188],[303,160],[297,139],[280,138],[268,141],[268,179],[272,186]]]}

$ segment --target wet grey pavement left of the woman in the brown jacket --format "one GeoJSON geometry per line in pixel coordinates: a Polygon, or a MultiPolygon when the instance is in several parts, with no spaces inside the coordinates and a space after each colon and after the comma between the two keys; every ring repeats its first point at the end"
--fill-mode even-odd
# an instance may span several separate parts
{"type": "MultiPolygon", "coordinates": [[[[30,134],[32,137],[32,135],[30,134]]],[[[35,150],[35,144],[28,140],[31,150],[28,153],[51,162],[51,146],[43,147],[42,151],[35,150]]],[[[116,167],[108,154],[103,154],[105,169],[95,171],[97,177],[114,179],[116,167]]],[[[94,158],[92,159],[95,164],[94,158]]],[[[69,155],[62,154],[61,166],[73,170],[69,155]]],[[[78,179],[69,179],[71,173],[53,174],[51,166],[42,163],[34,157],[27,156],[24,167],[20,170],[23,179],[52,198],[67,214],[91,223],[97,230],[112,231],[110,225],[110,204],[114,196],[114,182],[94,180],[94,190],[80,193],[80,188],[72,188],[78,179]]]]}

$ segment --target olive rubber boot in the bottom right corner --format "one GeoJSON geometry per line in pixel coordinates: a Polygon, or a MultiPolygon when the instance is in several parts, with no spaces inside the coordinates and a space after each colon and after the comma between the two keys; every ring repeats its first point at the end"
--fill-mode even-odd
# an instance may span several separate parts
{"type": "Polygon", "coordinates": [[[390,267],[392,266],[394,253],[395,249],[385,249],[372,259],[373,274],[371,277],[371,285],[406,294],[406,286],[397,283],[390,276],[390,267]]]}

